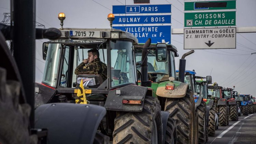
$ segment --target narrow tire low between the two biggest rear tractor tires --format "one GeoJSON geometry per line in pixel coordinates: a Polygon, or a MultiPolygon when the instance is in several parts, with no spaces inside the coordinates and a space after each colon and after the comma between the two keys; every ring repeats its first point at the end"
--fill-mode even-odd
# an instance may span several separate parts
{"type": "Polygon", "coordinates": [[[168,118],[166,134],[165,134],[165,144],[177,144],[177,127],[176,121],[173,118],[168,118]]]}

